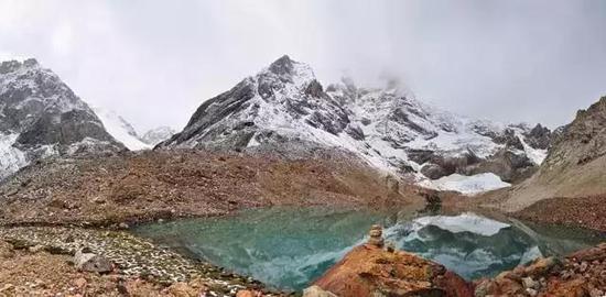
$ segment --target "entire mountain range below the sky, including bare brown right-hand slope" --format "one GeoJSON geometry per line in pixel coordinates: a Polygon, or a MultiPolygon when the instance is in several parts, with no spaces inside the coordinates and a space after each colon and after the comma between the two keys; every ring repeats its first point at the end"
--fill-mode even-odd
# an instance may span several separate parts
{"type": "Polygon", "coordinates": [[[365,88],[343,79],[325,88],[309,65],[283,56],[205,100],[181,132],[163,127],[140,135],[118,113],[91,109],[35,59],[3,62],[0,179],[41,158],[127,148],[288,158],[328,150],[442,190],[474,194],[517,184],[499,201],[519,209],[542,198],[606,191],[605,102],[602,98],[552,132],[444,111],[394,81],[365,88]]]}

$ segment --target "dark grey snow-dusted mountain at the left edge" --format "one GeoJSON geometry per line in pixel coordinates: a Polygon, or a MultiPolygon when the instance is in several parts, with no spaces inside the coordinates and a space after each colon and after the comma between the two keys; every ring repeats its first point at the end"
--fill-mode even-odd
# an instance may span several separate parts
{"type": "Polygon", "coordinates": [[[0,178],[41,157],[120,150],[56,74],[35,59],[0,64],[0,178]]]}

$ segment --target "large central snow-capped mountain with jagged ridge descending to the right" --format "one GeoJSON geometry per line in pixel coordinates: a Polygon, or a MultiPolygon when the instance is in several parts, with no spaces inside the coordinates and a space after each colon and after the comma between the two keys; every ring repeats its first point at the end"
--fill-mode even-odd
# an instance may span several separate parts
{"type": "Polygon", "coordinates": [[[325,90],[310,66],[283,56],[205,101],[159,146],[335,147],[416,182],[455,173],[511,182],[542,162],[549,135],[540,125],[504,125],[430,107],[393,82],[370,89],[344,79],[325,90]]]}

